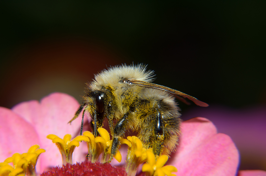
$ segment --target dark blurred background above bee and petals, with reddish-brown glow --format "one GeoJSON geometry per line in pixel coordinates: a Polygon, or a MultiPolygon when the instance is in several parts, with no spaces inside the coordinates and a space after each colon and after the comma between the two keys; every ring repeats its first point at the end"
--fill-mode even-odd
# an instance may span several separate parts
{"type": "Polygon", "coordinates": [[[132,62],[155,70],[155,83],[210,105],[265,104],[265,7],[266,1],[1,1],[0,106],[55,91],[80,101],[93,74],[132,62]]]}

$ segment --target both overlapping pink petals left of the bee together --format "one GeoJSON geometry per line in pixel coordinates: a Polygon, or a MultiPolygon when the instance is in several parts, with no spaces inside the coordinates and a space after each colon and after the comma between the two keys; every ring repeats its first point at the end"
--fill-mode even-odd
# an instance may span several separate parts
{"type": "MultiPolygon", "coordinates": [[[[81,118],[67,124],[73,117],[79,103],[64,93],[52,93],[40,102],[31,100],[14,106],[11,110],[0,107],[0,162],[13,153],[24,153],[30,146],[39,144],[46,152],[40,155],[36,172],[62,165],[62,158],[56,145],[46,138],[48,134],[63,137],[65,134],[77,136],[81,118]]],[[[87,118],[85,119],[87,120],[87,118]]],[[[86,144],[74,151],[73,162],[84,161],[86,144]]]]}

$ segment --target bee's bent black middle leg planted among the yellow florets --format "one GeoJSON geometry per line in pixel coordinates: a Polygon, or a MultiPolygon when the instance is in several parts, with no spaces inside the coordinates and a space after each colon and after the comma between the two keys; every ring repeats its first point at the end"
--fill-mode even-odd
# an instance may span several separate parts
{"type": "Polygon", "coordinates": [[[121,136],[123,136],[125,134],[126,127],[127,127],[126,125],[128,123],[128,116],[129,116],[129,113],[124,114],[124,116],[116,123],[116,125],[113,129],[113,142],[112,142],[110,160],[116,154],[116,152],[120,146],[119,139],[121,138],[121,136]]]}

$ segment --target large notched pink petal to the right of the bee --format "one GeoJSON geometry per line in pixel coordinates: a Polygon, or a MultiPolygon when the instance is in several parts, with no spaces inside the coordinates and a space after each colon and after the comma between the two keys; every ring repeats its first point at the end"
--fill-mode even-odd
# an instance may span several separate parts
{"type": "Polygon", "coordinates": [[[218,133],[209,120],[193,118],[181,125],[176,152],[168,164],[178,175],[235,175],[239,154],[231,138],[218,133]]]}

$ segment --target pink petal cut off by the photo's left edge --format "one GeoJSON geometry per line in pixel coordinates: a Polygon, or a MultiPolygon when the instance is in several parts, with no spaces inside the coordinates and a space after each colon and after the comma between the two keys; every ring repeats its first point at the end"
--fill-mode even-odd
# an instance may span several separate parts
{"type": "Polygon", "coordinates": [[[10,109],[0,107],[0,124],[0,162],[39,144],[35,128],[10,109]]]}

